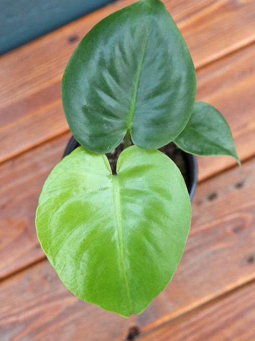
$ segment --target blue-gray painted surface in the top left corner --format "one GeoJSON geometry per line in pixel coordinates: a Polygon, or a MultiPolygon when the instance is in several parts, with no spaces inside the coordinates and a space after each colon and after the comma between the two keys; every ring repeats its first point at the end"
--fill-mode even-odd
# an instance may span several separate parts
{"type": "Polygon", "coordinates": [[[0,0],[0,55],[115,0],[0,0]]]}

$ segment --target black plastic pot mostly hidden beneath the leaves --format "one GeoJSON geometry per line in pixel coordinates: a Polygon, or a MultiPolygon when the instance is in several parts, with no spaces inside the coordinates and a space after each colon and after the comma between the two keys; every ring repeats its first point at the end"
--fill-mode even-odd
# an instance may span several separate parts
{"type": "MultiPolygon", "coordinates": [[[[79,146],[80,146],[79,142],[77,142],[74,139],[74,137],[72,136],[70,138],[67,146],[66,146],[63,157],[70,154],[75,148],[77,148],[79,146]]],[[[176,148],[178,148],[178,147],[176,147],[176,148]]],[[[185,167],[186,167],[185,183],[186,183],[186,186],[188,188],[189,195],[190,195],[190,201],[192,201],[192,199],[195,195],[196,186],[197,186],[196,156],[193,154],[186,153],[185,151],[183,151],[181,149],[180,149],[180,152],[182,153],[182,157],[183,157],[185,167]]]]}

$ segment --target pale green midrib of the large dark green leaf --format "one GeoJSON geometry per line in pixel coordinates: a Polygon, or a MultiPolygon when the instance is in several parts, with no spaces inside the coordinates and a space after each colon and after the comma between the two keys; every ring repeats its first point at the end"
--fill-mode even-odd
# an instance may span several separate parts
{"type": "Polygon", "coordinates": [[[141,72],[142,72],[142,65],[143,65],[143,61],[144,61],[144,57],[145,57],[145,51],[146,51],[148,37],[149,37],[149,31],[150,31],[150,26],[151,26],[153,9],[154,9],[154,5],[151,7],[149,26],[148,26],[148,30],[146,32],[146,38],[145,38],[145,41],[143,44],[142,56],[141,56],[140,64],[138,66],[137,76],[136,76],[136,80],[135,80],[135,84],[134,84],[134,90],[133,90],[132,98],[130,101],[129,116],[127,118],[127,130],[131,130],[131,123],[132,123],[134,115],[135,115],[138,85],[139,85],[139,81],[140,81],[140,76],[141,76],[141,72]]]}

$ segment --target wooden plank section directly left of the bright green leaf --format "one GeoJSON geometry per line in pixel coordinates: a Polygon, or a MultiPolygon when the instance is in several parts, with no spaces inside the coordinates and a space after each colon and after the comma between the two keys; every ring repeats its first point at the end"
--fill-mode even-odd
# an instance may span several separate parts
{"type": "Polygon", "coordinates": [[[0,165],[0,279],[45,258],[35,230],[35,211],[43,183],[61,160],[66,133],[0,165]]]}

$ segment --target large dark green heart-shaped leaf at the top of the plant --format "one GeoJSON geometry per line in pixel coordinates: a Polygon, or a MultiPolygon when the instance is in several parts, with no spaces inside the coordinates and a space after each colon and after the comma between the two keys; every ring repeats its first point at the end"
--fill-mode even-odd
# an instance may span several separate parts
{"type": "Polygon", "coordinates": [[[186,43],[158,0],[141,0],[100,21],[66,67],[62,100],[75,139],[112,151],[127,130],[135,145],[157,149],[187,124],[195,69],[186,43]]]}

